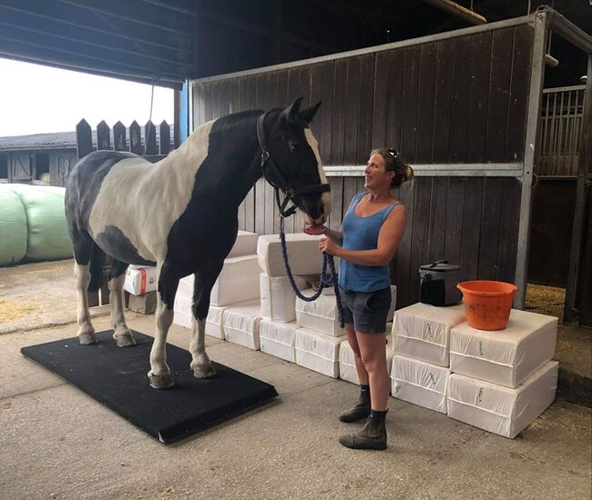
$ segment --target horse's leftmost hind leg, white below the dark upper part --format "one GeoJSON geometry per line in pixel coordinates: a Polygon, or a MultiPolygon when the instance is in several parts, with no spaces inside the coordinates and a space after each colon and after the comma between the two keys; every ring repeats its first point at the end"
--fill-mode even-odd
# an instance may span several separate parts
{"type": "Polygon", "coordinates": [[[82,345],[97,344],[95,328],[90,322],[88,310],[88,284],[90,283],[90,256],[95,242],[86,233],[71,232],[74,246],[74,277],[77,287],[78,342],[82,345]]]}

